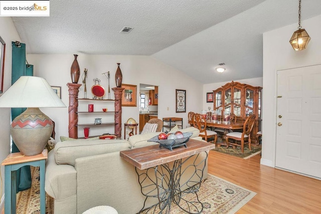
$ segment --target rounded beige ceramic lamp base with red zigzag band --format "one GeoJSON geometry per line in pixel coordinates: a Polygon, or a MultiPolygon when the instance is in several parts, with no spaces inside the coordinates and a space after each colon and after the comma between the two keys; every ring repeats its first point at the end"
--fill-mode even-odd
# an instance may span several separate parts
{"type": "Polygon", "coordinates": [[[11,136],[21,153],[40,154],[52,134],[53,122],[39,108],[28,108],[11,124],[11,136]]]}

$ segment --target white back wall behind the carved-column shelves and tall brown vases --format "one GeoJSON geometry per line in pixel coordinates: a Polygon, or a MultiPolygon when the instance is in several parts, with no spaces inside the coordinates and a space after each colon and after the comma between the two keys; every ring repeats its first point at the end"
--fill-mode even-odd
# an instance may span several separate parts
{"type": "MultiPolygon", "coordinates": [[[[73,54],[77,53],[69,55],[27,55],[28,62],[34,65],[34,76],[44,77],[50,85],[62,87],[62,101],[66,106],[69,105],[68,87],[66,84],[71,82],[70,67],[74,60],[73,54]]],[[[108,89],[108,80],[102,75],[104,72],[110,71],[110,88],[115,87],[114,75],[117,69],[116,63],[120,63],[123,75],[122,83],[137,85],[137,96],[140,83],[158,86],[158,118],[182,117],[184,127],[186,127],[188,112],[202,107],[203,98],[199,96],[203,92],[202,84],[152,57],[79,54],[78,63],[81,75],[84,68],[88,69],[88,79],[86,81],[88,98],[90,98],[90,89],[94,84],[92,80],[95,78],[100,79],[100,85],[108,89]],[[176,113],[175,111],[176,89],[186,90],[186,113],[176,113]],[[169,110],[167,110],[167,107],[169,107],[169,110]]],[[[81,83],[81,79],[78,83],[81,83]]],[[[79,98],[83,98],[83,88],[83,86],[80,87],[79,98]]],[[[112,90],[111,94],[113,99],[112,90]]],[[[68,136],[68,108],[42,108],[41,110],[55,121],[56,140],[60,136],[68,136]]],[[[130,117],[139,121],[138,100],[137,107],[122,107],[122,137],[123,123],[130,117]]]]}

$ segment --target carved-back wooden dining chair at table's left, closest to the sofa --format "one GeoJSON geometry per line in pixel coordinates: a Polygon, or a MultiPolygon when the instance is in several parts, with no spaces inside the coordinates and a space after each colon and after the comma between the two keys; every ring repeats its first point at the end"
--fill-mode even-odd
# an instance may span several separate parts
{"type": "Polygon", "coordinates": [[[200,137],[204,138],[205,141],[209,143],[213,142],[214,144],[216,144],[217,133],[215,131],[206,130],[206,127],[207,127],[206,118],[204,118],[199,113],[195,113],[194,119],[193,119],[193,125],[195,128],[200,130],[200,135],[199,135],[200,137]],[[213,138],[213,137],[214,137],[214,140],[208,141],[209,138],[213,138]]]}

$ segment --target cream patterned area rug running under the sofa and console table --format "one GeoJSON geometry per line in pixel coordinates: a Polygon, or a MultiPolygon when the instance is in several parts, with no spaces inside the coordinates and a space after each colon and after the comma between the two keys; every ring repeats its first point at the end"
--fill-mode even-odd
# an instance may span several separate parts
{"type": "MultiPolygon", "coordinates": [[[[38,214],[40,213],[40,182],[39,167],[31,166],[32,186],[29,189],[17,193],[17,214],[38,214]]],[[[209,174],[202,182],[197,192],[199,200],[203,203],[202,213],[235,213],[246,204],[254,195],[253,191],[233,184],[229,181],[209,174]]],[[[195,194],[184,196],[189,201],[195,201],[195,194]]],[[[53,198],[46,194],[46,214],[54,211],[53,198]]],[[[149,213],[149,212],[144,212],[149,213]]],[[[155,212],[158,213],[158,212],[155,212]]],[[[172,204],[170,213],[183,214],[176,204],[172,204]]]]}

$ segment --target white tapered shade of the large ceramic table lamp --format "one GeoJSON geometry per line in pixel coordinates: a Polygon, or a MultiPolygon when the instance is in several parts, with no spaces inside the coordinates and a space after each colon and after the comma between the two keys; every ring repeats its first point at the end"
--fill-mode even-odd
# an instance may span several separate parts
{"type": "Polygon", "coordinates": [[[0,97],[0,108],[66,107],[62,100],[41,77],[21,76],[0,97]]]}

